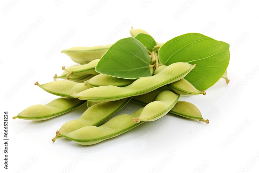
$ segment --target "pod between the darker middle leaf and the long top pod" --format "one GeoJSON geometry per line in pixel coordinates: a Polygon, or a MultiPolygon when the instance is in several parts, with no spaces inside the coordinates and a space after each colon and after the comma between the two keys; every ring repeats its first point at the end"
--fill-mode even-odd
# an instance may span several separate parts
{"type": "Polygon", "coordinates": [[[105,74],[98,74],[95,77],[85,81],[85,83],[94,87],[106,86],[106,85],[124,87],[132,84],[132,82],[134,82],[134,80],[116,78],[105,74]]]}

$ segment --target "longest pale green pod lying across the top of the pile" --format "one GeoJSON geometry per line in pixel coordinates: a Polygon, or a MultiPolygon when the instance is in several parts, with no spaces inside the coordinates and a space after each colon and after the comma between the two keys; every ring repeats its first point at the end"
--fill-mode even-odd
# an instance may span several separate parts
{"type": "Polygon", "coordinates": [[[78,94],[72,94],[71,96],[81,100],[106,102],[142,95],[184,78],[195,66],[196,64],[174,63],[154,76],[137,79],[125,87],[100,86],[90,88],[78,94]]]}

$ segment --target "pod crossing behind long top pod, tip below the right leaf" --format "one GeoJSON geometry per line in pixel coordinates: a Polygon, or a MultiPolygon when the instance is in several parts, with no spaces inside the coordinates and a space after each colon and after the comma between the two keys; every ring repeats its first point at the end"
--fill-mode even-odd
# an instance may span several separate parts
{"type": "MultiPolygon", "coordinates": [[[[159,66],[158,68],[156,68],[155,74],[160,73],[166,67],[167,67],[166,65],[159,66]]],[[[206,94],[205,91],[199,91],[190,82],[188,82],[185,79],[180,79],[176,82],[168,84],[167,86],[177,94],[183,94],[183,95],[193,95],[193,94],[205,95],[206,94]]]]}

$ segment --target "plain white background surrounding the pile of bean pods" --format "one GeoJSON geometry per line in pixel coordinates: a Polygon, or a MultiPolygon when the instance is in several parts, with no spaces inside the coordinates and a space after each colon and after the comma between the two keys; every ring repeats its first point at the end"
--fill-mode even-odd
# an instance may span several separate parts
{"type": "MultiPolygon", "coordinates": [[[[1,1],[0,139],[2,141],[4,138],[5,111],[9,115],[10,139],[8,170],[3,168],[3,142],[0,142],[1,172],[258,172],[259,72],[256,68],[259,64],[259,2],[235,0],[236,4],[229,8],[230,0],[110,0],[103,1],[89,15],[92,7],[100,2],[27,0],[15,1],[10,5],[9,0],[1,1]],[[186,3],[189,3],[187,8],[186,3]],[[182,10],[182,14],[178,10],[182,10]],[[175,16],[177,13],[180,14],[178,17],[175,16]],[[42,18],[42,21],[38,18],[42,18]],[[37,20],[38,24],[34,24],[37,20]],[[37,25],[33,30],[32,24],[37,25]],[[209,124],[166,115],[162,123],[144,123],[113,139],[93,146],[81,146],[66,139],[52,143],[51,139],[65,122],[79,117],[86,105],[42,122],[28,123],[12,119],[26,107],[46,104],[58,98],[34,86],[34,82],[51,82],[54,74],[62,73],[62,66],[76,64],[60,53],[62,49],[104,44],[113,33],[115,37],[110,43],[114,43],[130,37],[131,26],[144,29],[155,38],[157,36],[156,41],[161,43],[181,34],[198,32],[225,41],[233,47],[228,66],[228,85],[221,79],[207,89],[206,96],[181,98],[194,103],[203,117],[210,120],[209,124]],[[75,33],[64,41],[62,37],[71,28],[76,30],[75,33]],[[26,31],[29,31],[26,38],[15,45],[14,42],[26,31]],[[240,44],[237,40],[240,40],[240,44]],[[59,41],[62,45],[52,56],[47,57],[47,53],[59,41]],[[30,71],[33,74],[28,77],[30,71]],[[253,76],[250,78],[248,75],[253,76]],[[22,78],[28,79],[23,81],[22,78]],[[240,84],[242,82],[243,85],[240,84]],[[5,95],[17,84],[20,87],[7,98],[5,95]],[[154,124],[159,126],[151,128],[154,124]],[[145,137],[143,134],[148,130],[151,134],[145,137]],[[231,139],[229,136],[234,133],[237,136],[231,139]],[[146,139],[140,141],[140,138],[146,139]],[[136,145],[137,142],[140,144],[136,145]],[[170,156],[171,151],[176,152],[174,156],[170,156]],[[255,162],[252,163],[250,160],[253,159],[255,162]],[[161,168],[157,171],[159,165],[161,168]],[[246,167],[247,170],[244,170],[246,167]]],[[[129,106],[133,107],[129,113],[140,108],[134,103],[129,103],[129,106]]]]}

